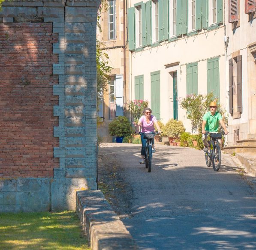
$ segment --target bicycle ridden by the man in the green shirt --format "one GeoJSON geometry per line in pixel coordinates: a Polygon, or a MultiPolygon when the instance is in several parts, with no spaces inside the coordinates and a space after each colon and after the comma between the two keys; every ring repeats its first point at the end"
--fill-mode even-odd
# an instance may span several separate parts
{"type": "Polygon", "coordinates": [[[221,151],[220,146],[218,145],[218,141],[224,135],[224,132],[221,133],[205,133],[206,135],[210,136],[210,140],[208,141],[208,150],[205,152],[205,162],[207,167],[212,167],[214,171],[218,171],[220,169],[221,164],[221,151]]]}

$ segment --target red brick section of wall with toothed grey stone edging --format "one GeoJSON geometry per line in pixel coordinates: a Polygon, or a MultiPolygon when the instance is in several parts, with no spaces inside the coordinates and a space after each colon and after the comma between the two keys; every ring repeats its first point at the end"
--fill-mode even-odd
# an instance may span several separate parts
{"type": "Polygon", "coordinates": [[[53,177],[52,23],[0,24],[0,177],[53,177]]]}

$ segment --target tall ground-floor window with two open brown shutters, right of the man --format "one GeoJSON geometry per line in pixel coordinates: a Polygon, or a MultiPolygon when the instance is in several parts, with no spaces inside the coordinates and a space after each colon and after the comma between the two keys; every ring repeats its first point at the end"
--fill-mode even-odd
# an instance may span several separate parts
{"type": "Polygon", "coordinates": [[[241,117],[242,100],[242,56],[229,60],[229,113],[233,119],[241,117]]]}

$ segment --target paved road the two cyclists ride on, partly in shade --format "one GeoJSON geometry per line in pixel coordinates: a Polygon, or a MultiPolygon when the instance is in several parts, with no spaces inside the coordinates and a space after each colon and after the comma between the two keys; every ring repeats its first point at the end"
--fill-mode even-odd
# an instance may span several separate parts
{"type": "Polygon", "coordinates": [[[242,176],[234,157],[223,155],[215,172],[202,151],[157,145],[148,173],[139,145],[99,151],[116,158],[133,190],[123,223],[139,249],[256,249],[256,179],[242,176]]]}

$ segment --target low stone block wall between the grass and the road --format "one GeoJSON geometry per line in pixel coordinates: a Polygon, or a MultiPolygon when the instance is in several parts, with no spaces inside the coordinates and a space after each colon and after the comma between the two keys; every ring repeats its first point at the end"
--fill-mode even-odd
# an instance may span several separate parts
{"type": "Polygon", "coordinates": [[[130,232],[100,190],[77,191],[76,210],[91,249],[137,249],[130,232]]]}

